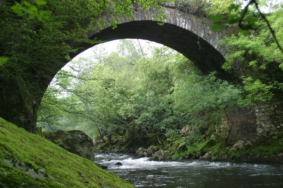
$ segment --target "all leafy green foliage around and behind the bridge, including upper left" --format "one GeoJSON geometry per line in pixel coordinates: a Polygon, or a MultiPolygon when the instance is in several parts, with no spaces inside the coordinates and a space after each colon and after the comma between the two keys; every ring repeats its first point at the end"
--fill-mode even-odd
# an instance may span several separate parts
{"type": "MultiPolygon", "coordinates": [[[[165,2],[147,1],[143,8],[159,9],[165,2]]],[[[133,17],[129,0],[1,4],[0,81],[25,81],[27,92],[41,102],[37,122],[45,130],[81,129],[100,136],[103,142],[111,142],[113,135],[143,141],[152,133],[188,145],[203,141],[204,133],[230,108],[280,99],[283,89],[283,53],[278,48],[283,42],[282,4],[271,5],[272,12],[262,17],[256,7],[245,14],[239,12],[239,2],[232,6],[232,1],[209,2],[179,0],[177,4],[181,10],[213,18],[220,24],[215,29],[240,22],[241,33],[229,35],[223,42],[230,50],[223,68],[231,74],[236,73],[235,64],[247,70],[242,84],[219,80],[214,72],[202,75],[189,60],[167,47],[153,48],[147,55],[138,41],[123,40],[117,52],[96,51],[91,59],[72,61],[68,70],[59,71],[41,101],[40,89],[46,88],[41,84],[48,84],[42,80],[51,71],[46,62],[56,62],[53,68],[58,69],[70,60],[69,55],[79,49],[67,41],[99,43],[84,38],[83,33],[105,26],[98,16],[103,11],[117,18],[133,17]],[[99,24],[90,27],[93,23],[99,24]]],[[[162,21],[164,15],[155,18],[162,21]]],[[[114,28],[115,24],[117,19],[112,20],[114,28]]]]}

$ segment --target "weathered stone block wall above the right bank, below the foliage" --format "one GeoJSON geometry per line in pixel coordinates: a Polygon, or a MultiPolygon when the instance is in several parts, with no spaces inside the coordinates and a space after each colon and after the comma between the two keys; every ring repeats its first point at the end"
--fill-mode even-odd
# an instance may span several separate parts
{"type": "MultiPolygon", "coordinates": [[[[273,102],[261,107],[235,108],[228,112],[228,119],[232,123],[228,142],[233,144],[238,140],[256,142],[259,139],[277,139],[283,134],[283,104],[273,102]]],[[[230,125],[222,117],[222,123],[216,125],[217,135],[227,136],[230,125]]]]}

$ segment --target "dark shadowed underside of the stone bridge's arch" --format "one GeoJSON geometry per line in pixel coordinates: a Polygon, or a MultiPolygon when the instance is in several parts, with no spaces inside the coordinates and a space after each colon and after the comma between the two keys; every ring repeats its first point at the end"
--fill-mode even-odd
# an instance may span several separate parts
{"type": "MultiPolygon", "coordinates": [[[[216,70],[218,76],[229,80],[221,64],[225,61],[224,57],[207,41],[198,37],[196,34],[173,24],[164,23],[158,25],[153,21],[132,21],[117,25],[117,28],[108,27],[96,33],[90,39],[111,41],[116,39],[145,39],[168,46],[191,60],[204,74],[216,70]]],[[[82,51],[92,47],[92,44],[83,43],[75,57],[82,51]]]]}

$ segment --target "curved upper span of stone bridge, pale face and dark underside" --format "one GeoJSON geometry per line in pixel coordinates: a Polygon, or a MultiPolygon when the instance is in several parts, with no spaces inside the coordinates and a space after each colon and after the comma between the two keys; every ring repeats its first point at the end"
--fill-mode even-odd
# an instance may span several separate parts
{"type": "MultiPolygon", "coordinates": [[[[212,23],[192,14],[184,13],[175,8],[163,7],[162,11],[167,15],[163,25],[152,21],[154,10],[141,10],[134,5],[134,18],[121,18],[117,28],[105,27],[99,32],[89,32],[86,38],[111,41],[115,39],[146,39],[164,44],[190,59],[204,74],[216,70],[222,79],[230,79],[230,76],[221,68],[228,53],[224,47],[218,44],[223,39],[222,32],[211,30],[212,23]]],[[[111,16],[104,14],[106,24],[110,24],[111,16]]],[[[76,43],[72,47],[80,47],[78,52],[70,54],[73,58],[82,51],[92,47],[92,44],[76,43]]]]}

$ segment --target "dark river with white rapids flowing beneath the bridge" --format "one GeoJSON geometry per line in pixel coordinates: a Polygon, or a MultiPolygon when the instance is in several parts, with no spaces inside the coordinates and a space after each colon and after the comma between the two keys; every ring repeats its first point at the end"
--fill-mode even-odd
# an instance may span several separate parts
{"type": "Polygon", "coordinates": [[[117,153],[97,153],[95,157],[108,171],[136,187],[283,187],[282,163],[150,161],[117,153]],[[115,165],[117,162],[122,166],[115,165]]]}

